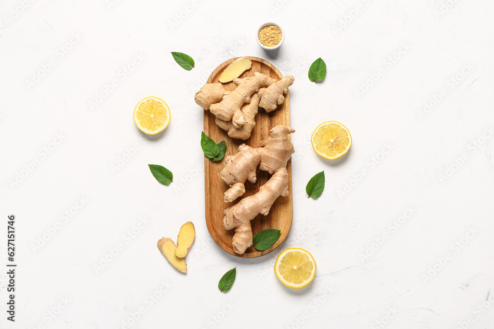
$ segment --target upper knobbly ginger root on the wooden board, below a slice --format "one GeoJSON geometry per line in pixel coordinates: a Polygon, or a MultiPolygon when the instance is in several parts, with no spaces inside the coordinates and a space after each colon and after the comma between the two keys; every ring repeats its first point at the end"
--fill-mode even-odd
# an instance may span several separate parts
{"type": "Polygon", "coordinates": [[[221,83],[207,83],[196,93],[195,101],[216,116],[216,124],[227,130],[228,136],[247,140],[255,126],[258,108],[267,112],[276,110],[285,101],[284,94],[293,80],[291,75],[277,81],[255,72],[251,77],[233,79],[237,88],[232,92],[227,92],[221,83]]]}

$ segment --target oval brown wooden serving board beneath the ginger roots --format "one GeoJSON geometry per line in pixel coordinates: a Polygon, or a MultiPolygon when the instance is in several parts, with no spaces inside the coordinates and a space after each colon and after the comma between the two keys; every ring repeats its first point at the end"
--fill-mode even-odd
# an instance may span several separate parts
{"type": "MultiPolygon", "coordinates": [[[[226,66],[237,58],[232,58],[216,68],[211,73],[207,83],[219,82],[218,78],[226,68],[226,66]]],[[[240,77],[253,76],[254,72],[260,72],[269,75],[275,79],[280,79],[283,75],[273,65],[265,60],[257,57],[247,57],[252,61],[252,67],[250,70],[244,72],[240,77]]],[[[228,82],[223,84],[225,89],[234,90],[235,84],[228,82]]],[[[247,144],[251,147],[257,147],[259,142],[267,138],[269,130],[276,125],[284,124],[290,126],[290,106],[289,95],[285,95],[285,103],[280,105],[278,109],[266,113],[264,110],[259,109],[259,112],[255,116],[255,127],[252,130],[252,135],[246,141],[233,139],[228,136],[227,131],[220,129],[214,122],[215,116],[209,112],[204,111],[204,133],[212,138],[216,143],[226,141],[227,149],[226,155],[233,155],[237,153],[237,149],[241,144],[247,144]]],[[[225,156],[226,156],[225,155],[225,156]]],[[[226,203],[223,201],[223,193],[228,189],[228,185],[221,180],[220,172],[223,169],[223,161],[211,162],[208,158],[204,158],[204,175],[205,175],[205,191],[206,191],[206,225],[211,237],[224,251],[239,257],[257,257],[268,254],[275,250],[287,237],[291,227],[291,219],[293,216],[293,203],[292,203],[292,189],[291,189],[291,159],[288,161],[288,196],[280,196],[267,216],[257,215],[255,219],[250,222],[252,225],[252,233],[256,234],[267,228],[275,228],[281,230],[281,235],[274,246],[265,250],[257,251],[253,246],[249,247],[243,255],[235,253],[232,249],[232,238],[235,234],[235,229],[225,230],[223,227],[223,211],[237,203],[241,198],[255,194],[259,191],[259,187],[264,185],[271,175],[265,171],[260,171],[257,168],[257,182],[252,184],[246,182],[246,193],[234,202],[226,203]]]]}

